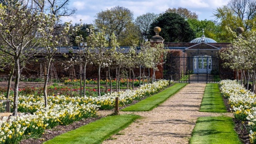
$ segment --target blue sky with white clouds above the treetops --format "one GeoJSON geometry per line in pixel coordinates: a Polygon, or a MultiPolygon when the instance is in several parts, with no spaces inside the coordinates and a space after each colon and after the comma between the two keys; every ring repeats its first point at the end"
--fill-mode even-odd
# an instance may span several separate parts
{"type": "Polygon", "coordinates": [[[150,13],[163,13],[168,8],[187,8],[196,12],[199,20],[214,20],[213,12],[229,0],[70,0],[69,7],[76,8],[77,12],[74,17],[64,17],[62,21],[72,23],[93,24],[95,15],[98,12],[111,9],[117,5],[128,8],[134,13],[134,19],[137,16],[150,13]]]}

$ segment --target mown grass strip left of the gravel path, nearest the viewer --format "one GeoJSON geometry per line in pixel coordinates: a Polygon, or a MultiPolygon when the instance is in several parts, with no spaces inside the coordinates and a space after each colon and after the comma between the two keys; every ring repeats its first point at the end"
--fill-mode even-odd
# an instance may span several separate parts
{"type": "Polygon", "coordinates": [[[138,115],[108,116],[56,136],[44,144],[99,144],[138,118],[138,115]]]}

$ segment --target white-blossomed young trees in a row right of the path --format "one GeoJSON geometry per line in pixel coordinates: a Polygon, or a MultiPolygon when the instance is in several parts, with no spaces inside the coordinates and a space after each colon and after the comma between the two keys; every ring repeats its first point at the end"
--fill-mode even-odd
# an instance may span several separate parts
{"type": "Polygon", "coordinates": [[[230,28],[227,31],[233,35],[232,46],[220,53],[221,59],[225,60],[224,65],[241,72],[241,84],[246,84],[249,89],[249,83],[252,81],[252,91],[256,90],[256,32],[249,31],[247,37],[239,38],[230,28]]]}

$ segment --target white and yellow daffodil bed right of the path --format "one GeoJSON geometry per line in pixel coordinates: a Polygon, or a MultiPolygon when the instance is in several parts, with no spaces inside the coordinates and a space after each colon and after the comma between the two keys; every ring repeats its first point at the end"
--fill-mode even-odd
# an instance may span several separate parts
{"type": "Polygon", "coordinates": [[[256,95],[246,90],[236,80],[223,80],[220,82],[221,94],[228,98],[231,110],[236,119],[247,124],[251,143],[256,143],[256,95]]]}

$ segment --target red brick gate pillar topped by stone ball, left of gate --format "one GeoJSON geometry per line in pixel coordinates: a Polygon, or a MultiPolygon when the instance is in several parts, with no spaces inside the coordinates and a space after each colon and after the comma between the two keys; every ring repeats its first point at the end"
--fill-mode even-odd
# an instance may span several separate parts
{"type": "MultiPolygon", "coordinates": [[[[163,44],[164,43],[164,40],[163,37],[159,36],[159,33],[161,32],[161,28],[160,27],[155,27],[154,28],[154,32],[156,33],[155,36],[152,36],[149,40],[150,40],[150,43],[151,45],[154,45],[154,44],[163,44]]],[[[163,62],[163,61],[162,61],[163,62]]],[[[158,70],[159,71],[156,71],[156,79],[163,79],[163,65],[158,65],[157,66],[158,70]]],[[[150,76],[152,76],[153,74],[153,70],[150,69],[150,76]]]]}

